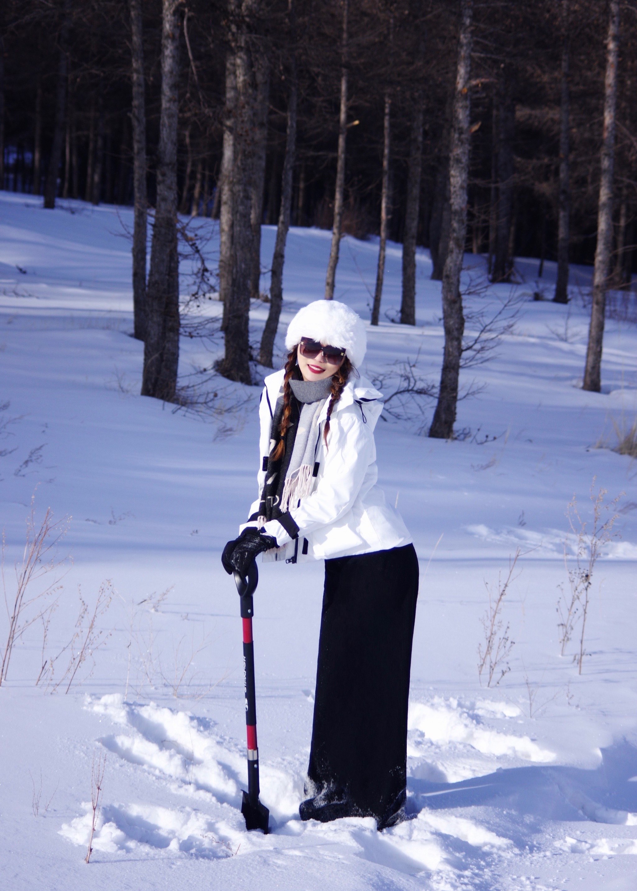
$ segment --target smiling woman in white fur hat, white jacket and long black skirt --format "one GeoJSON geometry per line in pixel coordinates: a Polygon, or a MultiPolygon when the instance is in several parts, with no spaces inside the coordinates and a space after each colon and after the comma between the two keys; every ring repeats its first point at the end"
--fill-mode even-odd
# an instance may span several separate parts
{"type": "Polygon", "coordinates": [[[285,368],[261,396],[259,498],[222,556],[325,560],[310,766],[302,820],[404,817],[407,705],[418,558],[376,486],[382,394],[357,371],[360,317],[335,300],[303,307],[285,368]]]}

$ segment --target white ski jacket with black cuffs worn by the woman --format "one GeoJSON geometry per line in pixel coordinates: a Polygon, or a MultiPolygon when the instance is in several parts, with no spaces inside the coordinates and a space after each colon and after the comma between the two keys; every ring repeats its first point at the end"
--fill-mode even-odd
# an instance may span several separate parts
{"type": "MultiPolygon", "coordinates": [[[[269,374],[261,395],[260,470],[257,498],[248,516],[259,510],[271,449],[270,428],[277,398],[282,394],[283,369],[269,374]]],[[[314,484],[311,494],[281,518],[269,520],[264,531],[279,546],[296,540],[295,559],[327,560],[410,544],[411,536],[400,515],[385,502],[376,486],[374,428],[383,411],[383,395],[365,378],[343,387],[330,419],[327,446],[323,428],[327,405],[318,416],[310,437],[316,441],[314,484]]],[[[244,523],[242,530],[256,526],[244,523]]]]}

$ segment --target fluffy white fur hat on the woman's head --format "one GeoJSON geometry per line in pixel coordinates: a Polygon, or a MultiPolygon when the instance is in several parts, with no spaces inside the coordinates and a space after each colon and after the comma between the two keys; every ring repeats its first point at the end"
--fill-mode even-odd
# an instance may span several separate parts
{"type": "Polygon", "coordinates": [[[310,337],[329,347],[342,347],[358,368],[368,346],[365,325],[353,309],[337,300],[315,300],[294,316],[285,334],[285,349],[291,350],[302,337],[310,337]]]}

